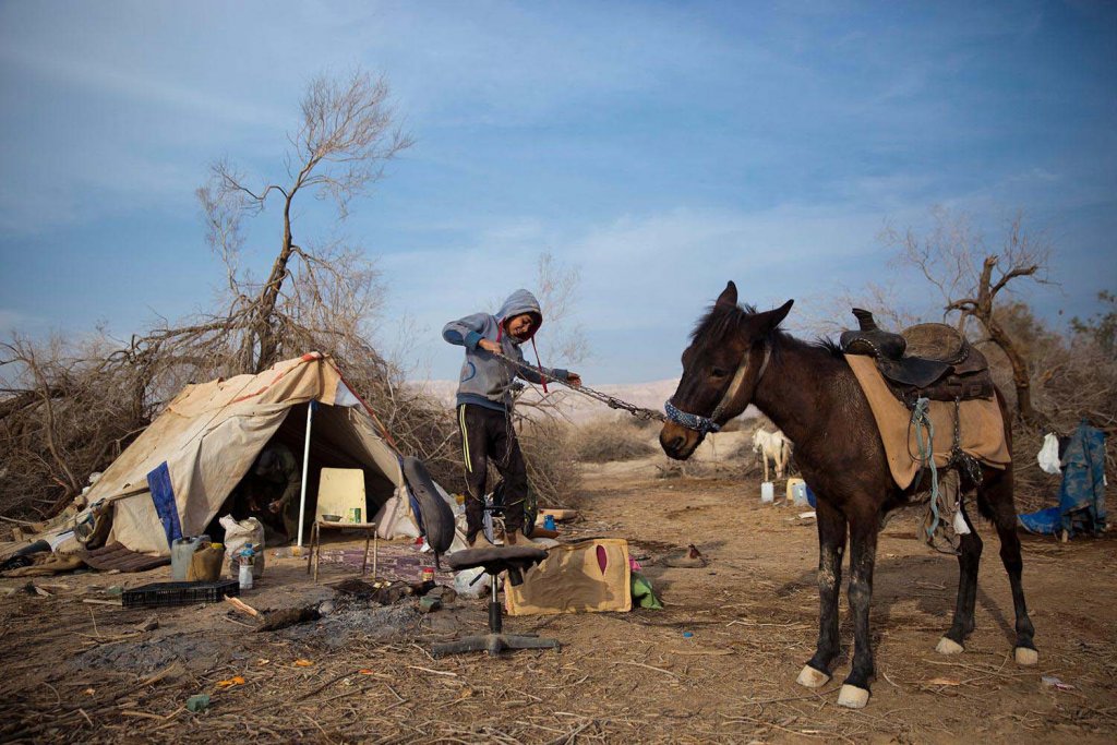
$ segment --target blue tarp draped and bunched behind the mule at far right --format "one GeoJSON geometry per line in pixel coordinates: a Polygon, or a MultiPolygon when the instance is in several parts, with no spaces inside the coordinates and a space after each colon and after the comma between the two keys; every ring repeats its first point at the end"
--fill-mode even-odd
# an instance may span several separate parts
{"type": "Polygon", "coordinates": [[[1060,461],[1059,506],[1020,515],[1032,533],[1101,533],[1106,529],[1106,433],[1083,420],[1070,436],[1060,461]]]}

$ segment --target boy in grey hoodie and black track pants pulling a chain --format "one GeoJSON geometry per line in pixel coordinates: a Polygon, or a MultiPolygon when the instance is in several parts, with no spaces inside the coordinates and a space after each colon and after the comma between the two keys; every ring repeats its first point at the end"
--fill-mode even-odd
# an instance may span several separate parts
{"type": "MultiPolygon", "coordinates": [[[[543,383],[550,375],[579,386],[577,373],[562,369],[532,367],[519,348],[533,341],[543,324],[540,302],[526,289],[513,293],[496,315],[475,313],[451,321],[442,328],[442,338],[466,347],[458,383],[458,427],[466,469],[466,541],[475,547],[485,541],[485,480],[487,464],[493,461],[505,483],[504,527],[508,545],[534,546],[524,534],[524,500],[527,497],[527,469],[512,427],[513,381],[516,376],[543,383]],[[502,359],[497,354],[512,360],[502,359]],[[478,537],[480,536],[480,537],[478,537]]],[[[534,341],[533,341],[534,344],[534,341]]],[[[536,353],[536,361],[538,353],[536,353]]]]}

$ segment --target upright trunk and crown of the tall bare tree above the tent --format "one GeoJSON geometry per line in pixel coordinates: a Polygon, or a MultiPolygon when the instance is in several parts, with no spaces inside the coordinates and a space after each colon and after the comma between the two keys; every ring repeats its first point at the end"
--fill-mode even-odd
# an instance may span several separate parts
{"type": "MultiPolygon", "coordinates": [[[[366,292],[375,279],[373,267],[363,262],[362,252],[338,243],[315,250],[296,241],[293,207],[299,194],[332,199],[340,219],[349,214],[354,197],[364,193],[379,181],[384,165],[413,143],[395,123],[389,103],[389,86],[363,70],[344,80],[316,77],[303,97],[302,122],[288,135],[290,147],[285,156],[286,180],[255,185],[228,161],[211,166],[211,180],[198,190],[206,216],[207,240],[227,267],[230,294],[230,316],[239,322],[239,357],[246,370],[260,371],[284,355],[280,340],[285,321],[278,308],[283,304],[286,280],[298,273],[294,283],[297,293],[309,294],[315,307],[330,303],[346,304],[351,317],[361,317],[373,297],[366,292]],[[259,214],[268,200],[281,206],[281,239],[279,251],[267,278],[252,285],[238,266],[244,243],[241,222],[259,214]],[[293,269],[295,259],[299,266],[293,269]],[[324,297],[325,288],[334,288],[324,297]]],[[[305,298],[292,298],[290,306],[308,307],[305,298]]],[[[321,329],[322,319],[295,318],[296,325],[321,329]]],[[[228,329],[227,329],[228,331],[228,329]]]]}

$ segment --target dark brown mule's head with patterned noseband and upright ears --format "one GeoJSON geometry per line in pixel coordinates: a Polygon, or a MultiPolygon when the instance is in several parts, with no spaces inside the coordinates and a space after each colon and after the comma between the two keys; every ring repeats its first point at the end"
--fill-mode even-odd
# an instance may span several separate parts
{"type": "Polygon", "coordinates": [[[772,334],[792,303],[756,313],[737,305],[736,285],[725,286],[682,353],[682,378],[667,402],[669,421],[659,432],[663,452],[686,460],[707,432],[745,410],[767,367],[772,334]]]}

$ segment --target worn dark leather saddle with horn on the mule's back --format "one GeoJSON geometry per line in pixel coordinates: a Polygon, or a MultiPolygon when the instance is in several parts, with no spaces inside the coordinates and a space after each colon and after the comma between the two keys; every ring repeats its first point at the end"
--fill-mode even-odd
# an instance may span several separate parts
{"type": "Polygon", "coordinates": [[[853,308],[853,315],[860,328],[842,333],[842,352],[873,357],[892,394],[908,408],[919,398],[968,401],[993,397],[985,355],[953,326],[916,324],[896,334],[877,326],[868,311],[853,308]]]}

